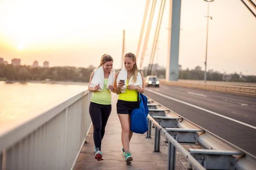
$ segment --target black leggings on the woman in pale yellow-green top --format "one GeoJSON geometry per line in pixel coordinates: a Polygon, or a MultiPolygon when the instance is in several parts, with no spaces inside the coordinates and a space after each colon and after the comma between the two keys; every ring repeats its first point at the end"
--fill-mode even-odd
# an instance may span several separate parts
{"type": "Polygon", "coordinates": [[[101,150],[101,142],[105,134],[108,117],[111,113],[111,105],[101,105],[90,102],[89,113],[93,122],[94,145],[101,150]]]}

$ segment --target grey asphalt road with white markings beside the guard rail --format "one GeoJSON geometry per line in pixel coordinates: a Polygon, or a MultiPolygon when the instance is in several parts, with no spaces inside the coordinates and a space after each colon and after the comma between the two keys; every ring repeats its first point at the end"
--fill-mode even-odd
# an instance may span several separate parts
{"type": "Polygon", "coordinates": [[[144,94],[256,156],[256,98],[171,85],[144,94]]]}

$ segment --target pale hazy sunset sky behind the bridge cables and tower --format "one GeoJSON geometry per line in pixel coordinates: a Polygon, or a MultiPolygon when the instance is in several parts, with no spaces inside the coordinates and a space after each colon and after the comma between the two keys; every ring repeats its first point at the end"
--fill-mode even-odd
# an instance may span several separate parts
{"type": "MultiPolygon", "coordinates": [[[[256,3],[256,0],[253,2],[256,3]]],[[[88,67],[110,54],[120,68],[136,53],[146,0],[0,0],[0,57],[22,65],[88,67]]],[[[152,3],[152,0],[151,0],[152,3]]],[[[161,1],[157,1],[144,66],[148,64],[161,1]]],[[[150,5],[151,8],[151,5],[150,5]]],[[[256,10],[254,10],[256,13],[256,10]]],[[[179,64],[204,69],[207,2],[182,0],[179,64]]],[[[207,69],[256,75],[256,18],[241,0],[210,3],[207,69]]],[[[166,0],[154,62],[166,66],[169,0],[166,0]]],[[[140,57],[140,55],[138,56],[140,57]]],[[[140,60],[140,59],[138,59],[140,60]]]]}

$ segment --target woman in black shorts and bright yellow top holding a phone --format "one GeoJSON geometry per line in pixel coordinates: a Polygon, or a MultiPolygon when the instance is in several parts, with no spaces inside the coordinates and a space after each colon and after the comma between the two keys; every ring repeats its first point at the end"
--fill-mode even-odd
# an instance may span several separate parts
{"type": "MultiPolygon", "coordinates": [[[[130,140],[132,137],[132,131],[130,130],[130,115],[134,108],[137,108],[137,95],[139,93],[144,93],[144,79],[143,73],[137,68],[136,56],[132,53],[125,54],[124,66],[127,70],[127,77],[125,79],[125,83],[118,82],[116,86],[116,94],[119,94],[118,101],[116,103],[116,110],[119,116],[121,126],[122,126],[122,152],[125,156],[125,161],[127,164],[130,164],[133,158],[131,157],[130,151],[130,140]],[[142,88],[136,85],[129,85],[129,79],[132,78],[133,83],[137,82],[137,75],[141,75],[142,88]],[[125,93],[121,92],[121,88],[126,84],[125,93]]],[[[118,77],[120,72],[117,73],[116,77],[118,77]]],[[[119,78],[118,78],[119,79],[119,78]]],[[[139,79],[138,79],[139,81],[139,79]]],[[[130,83],[131,83],[130,82],[130,83]]]]}

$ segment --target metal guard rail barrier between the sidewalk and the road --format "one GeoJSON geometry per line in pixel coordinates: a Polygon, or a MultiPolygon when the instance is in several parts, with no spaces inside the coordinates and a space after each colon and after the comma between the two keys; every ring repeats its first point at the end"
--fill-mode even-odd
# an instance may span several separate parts
{"type": "Polygon", "coordinates": [[[151,137],[151,127],[155,127],[154,152],[160,152],[160,133],[162,132],[166,137],[168,170],[175,170],[176,148],[188,159],[191,169],[256,169],[256,156],[221,139],[150,98],[148,98],[148,108],[146,137],[151,137]],[[181,145],[198,145],[201,149],[186,150],[181,145]]]}

